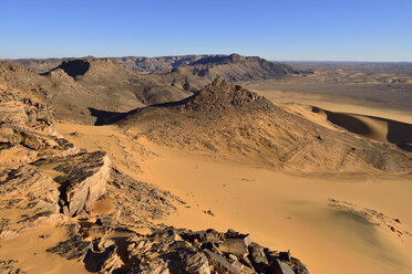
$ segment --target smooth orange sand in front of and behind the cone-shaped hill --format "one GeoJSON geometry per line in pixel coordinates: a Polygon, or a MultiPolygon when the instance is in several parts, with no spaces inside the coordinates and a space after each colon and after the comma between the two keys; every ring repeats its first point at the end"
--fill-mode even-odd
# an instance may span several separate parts
{"type": "MultiPolygon", "coordinates": [[[[271,97],[267,91],[261,94],[271,97]]],[[[399,114],[361,104],[339,107],[339,102],[299,101],[296,94],[288,94],[284,99],[291,110],[300,110],[326,126],[326,120],[310,117],[307,107],[297,103],[412,119],[408,112],[399,114]]],[[[275,102],[277,98],[274,96],[275,102]]],[[[58,130],[79,147],[106,150],[124,172],[186,201],[189,207],[179,207],[162,221],[166,224],[249,231],[267,246],[290,249],[313,273],[412,273],[410,178],[274,171],[254,162],[234,164],[159,147],[146,139],[131,141],[115,126],[59,124],[58,130]],[[75,137],[70,135],[74,131],[75,137]],[[142,151],[150,157],[143,159],[142,151]]]]}

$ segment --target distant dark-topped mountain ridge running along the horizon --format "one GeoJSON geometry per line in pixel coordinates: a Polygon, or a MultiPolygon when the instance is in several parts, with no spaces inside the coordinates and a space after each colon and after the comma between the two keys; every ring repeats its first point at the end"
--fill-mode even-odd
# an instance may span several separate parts
{"type": "MultiPolygon", "coordinates": [[[[87,59],[91,57],[20,59],[9,60],[9,62],[25,66],[35,73],[45,73],[58,67],[63,62],[87,59]]],[[[206,54],[161,57],[124,56],[107,57],[107,60],[114,60],[137,73],[168,72],[176,68],[183,68],[187,73],[197,76],[206,76],[209,80],[213,80],[216,76],[229,81],[279,78],[287,74],[299,73],[290,65],[284,63],[269,62],[258,56],[241,56],[235,53],[230,55],[206,54]]]]}

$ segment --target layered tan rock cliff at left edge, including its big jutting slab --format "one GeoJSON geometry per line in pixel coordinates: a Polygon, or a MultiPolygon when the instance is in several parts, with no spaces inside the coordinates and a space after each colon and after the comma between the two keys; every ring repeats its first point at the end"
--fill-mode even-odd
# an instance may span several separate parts
{"type": "Polygon", "coordinates": [[[79,152],[60,138],[51,108],[32,93],[0,86],[0,210],[20,212],[2,219],[0,238],[90,212],[105,193],[105,152],[79,152]]]}

